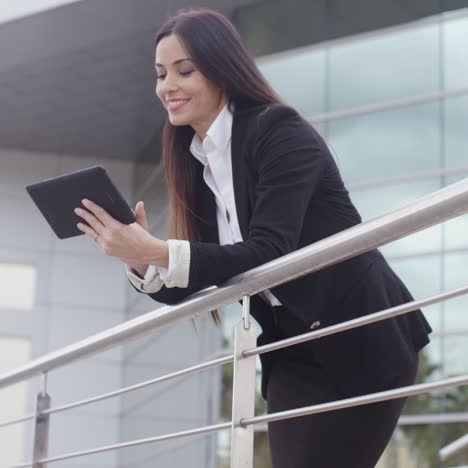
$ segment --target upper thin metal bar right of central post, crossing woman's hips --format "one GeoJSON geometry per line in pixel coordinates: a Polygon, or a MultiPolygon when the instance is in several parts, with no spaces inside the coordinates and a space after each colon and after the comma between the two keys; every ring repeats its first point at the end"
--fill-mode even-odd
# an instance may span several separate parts
{"type": "Polygon", "coordinates": [[[447,299],[452,299],[457,296],[462,296],[464,294],[468,294],[468,286],[465,286],[464,288],[453,289],[451,291],[437,294],[426,299],[407,302],[406,304],[395,306],[391,309],[386,309],[381,312],[374,312],[373,314],[365,315],[364,317],[358,317],[336,325],[331,325],[324,328],[323,330],[303,333],[301,335],[293,336],[292,338],[286,338],[284,340],[275,341],[274,343],[258,346],[257,348],[243,351],[242,356],[247,358],[250,356],[256,356],[257,354],[264,354],[295,344],[304,343],[305,341],[316,340],[318,338],[323,338],[324,336],[351,330],[352,328],[362,327],[364,325],[369,325],[371,323],[379,322],[391,317],[397,317],[398,315],[403,315],[408,312],[414,312],[422,307],[436,304],[447,299]]]}

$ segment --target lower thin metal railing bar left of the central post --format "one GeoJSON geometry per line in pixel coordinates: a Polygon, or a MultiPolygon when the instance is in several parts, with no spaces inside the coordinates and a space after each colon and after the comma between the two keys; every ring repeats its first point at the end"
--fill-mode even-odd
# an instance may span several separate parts
{"type": "MultiPolygon", "coordinates": [[[[98,447],[98,448],[89,449],[89,450],[82,450],[80,452],[72,452],[72,453],[67,453],[64,455],[57,455],[55,457],[49,457],[49,458],[44,458],[42,460],[37,460],[35,461],[35,463],[38,465],[46,464],[46,463],[54,463],[57,461],[70,460],[71,458],[78,458],[78,457],[84,457],[86,455],[95,455],[97,453],[109,452],[111,450],[119,450],[123,448],[136,447],[138,445],[151,444],[153,442],[161,442],[164,440],[179,439],[181,437],[188,437],[188,436],[194,436],[194,435],[208,434],[210,432],[224,431],[226,429],[231,429],[231,427],[232,427],[232,422],[214,424],[212,426],[204,426],[204,427],[199,427],[197,429],[189,429],[187,431],[173,432],[172,434],[165,434],[165,435],[156,436],[156,437],[147,437],[145,439],[132,440],[132,441],[123,442],[120,444],[106,445],[104,447],[98,447]]],[[[21,465],[11,466],[8,468],[26,468],[32,465],[33,463],[25,463],[21,465]]]]}

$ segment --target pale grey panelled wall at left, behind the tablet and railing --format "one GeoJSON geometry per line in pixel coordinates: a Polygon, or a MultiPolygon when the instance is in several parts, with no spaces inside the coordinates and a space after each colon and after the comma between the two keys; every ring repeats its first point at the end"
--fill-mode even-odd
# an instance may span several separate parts
{"type": "MultiPolygon", "coordinates": [[[[129,162],[0,151],[0,262],[32,264],[37,268],[32,310],[0,310],[0,335],[29,339],[30,358],[117,325],[126,318],[128,286],[120,262],[104,256],[83,236],[57,239],[24,189],[29,183],[97,163],[104,164],[125,196],[130,197],[133,166],[129,162]]],[[[121,359],[122,349],[116,348],[52,371],[49,376],[52,405],[120,387],[121,359]]],[[[31,380],[24,411],[33,411],[38,389],[39,379],[31,380]]],[[[114,398],[53,415],[50,454],[118,442],[119,414],[120,400],[114,398]]],[[[22,427],[24,459],[29,460],[32,424],[22,427]]],[[[2,429],[0,446],[5,447],[1,439],[2,429]]],[[[0,454],[0,462],[4,462],[1,458],[0,454]]],[[[108,452],[54,466],[107,468],[116,466],[117,459],[117,452],[108,452]]]]}

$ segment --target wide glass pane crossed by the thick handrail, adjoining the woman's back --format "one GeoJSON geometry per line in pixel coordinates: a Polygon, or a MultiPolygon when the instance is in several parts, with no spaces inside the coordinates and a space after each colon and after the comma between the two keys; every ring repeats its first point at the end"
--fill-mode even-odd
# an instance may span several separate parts
{"type": "MultiPolygon", "coordinates": [[[[439,179],[420,179],[399,184],[351,190],[351,200],[363,221],[402,208],[440,188],[439,179]]],[[[433,226],[382,247],[388,255],[413,255],[441,247],[441,227],[433,226]]]]}

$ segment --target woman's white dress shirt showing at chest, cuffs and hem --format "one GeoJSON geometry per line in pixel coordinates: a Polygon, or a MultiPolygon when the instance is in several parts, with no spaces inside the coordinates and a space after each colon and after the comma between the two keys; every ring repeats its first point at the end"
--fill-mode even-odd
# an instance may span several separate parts
{"type": "MultiPolygon", "coordinates": [[[[203,141],[195,133],[190,145],[190,152],[203,166],[203,179],[211,189],[216,200],[216,219],[219,243],[234,244],[242,242],[242,234],[237,219],[234,185],[232,181],[231,133],[232,113],[226,104],[208,129],[203,141]]],[[[150,265],[144,278],[126,268],[132,284],[142,292],[159,291],[163,285],[168,288],[178,286],[186,288],[190,270],[190,243],[186,240],[169,239],[168,268],[150,265]]],[[[271,305],[281,302],[269,291],[263,293],[271,305]]]]}

